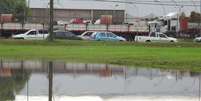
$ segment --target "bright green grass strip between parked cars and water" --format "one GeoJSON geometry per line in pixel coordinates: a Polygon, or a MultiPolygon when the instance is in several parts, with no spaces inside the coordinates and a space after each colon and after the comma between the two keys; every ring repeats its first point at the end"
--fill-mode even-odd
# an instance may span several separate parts
{"type": "Polygon", "coordinates": [[[201,71],[201,44],[1,40],[6,59],[46,59],[201,71]]]}

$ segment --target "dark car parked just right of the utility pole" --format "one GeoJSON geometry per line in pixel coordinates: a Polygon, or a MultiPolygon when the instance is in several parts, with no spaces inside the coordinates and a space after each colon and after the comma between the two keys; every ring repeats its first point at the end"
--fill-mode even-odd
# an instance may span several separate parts
{"type": "Polygon", "coordinates": [[[58,39],[71,39],[71,40],[81,40],[80,37],[77,37],[74,33],[69,31],[54,31],[55,38],[58,39]]]}

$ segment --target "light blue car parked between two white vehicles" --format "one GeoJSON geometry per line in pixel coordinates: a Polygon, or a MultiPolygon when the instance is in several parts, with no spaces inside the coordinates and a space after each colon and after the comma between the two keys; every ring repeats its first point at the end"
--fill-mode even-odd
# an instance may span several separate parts
{"type": "Polygon", "coordinates": [[[112,32],[94,32],[91,37],[97,41],[126,41],[125,38],[112,32]]]}

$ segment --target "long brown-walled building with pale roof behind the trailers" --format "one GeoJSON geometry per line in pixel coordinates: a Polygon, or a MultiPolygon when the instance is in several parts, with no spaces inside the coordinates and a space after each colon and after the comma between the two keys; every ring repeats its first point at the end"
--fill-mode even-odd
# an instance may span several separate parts
{"type": "MultiPolygon", "coordinates": [[[[30,22],[48,23],[49,0],[29,0],[31,8],[30,22]]],[[[113,24],[124,23],[125,5],[98,1],[55,0],[55,21],[70,21],[73,18],[83,18],[95,21],[102,15],[112,16],[113,24]]]]}

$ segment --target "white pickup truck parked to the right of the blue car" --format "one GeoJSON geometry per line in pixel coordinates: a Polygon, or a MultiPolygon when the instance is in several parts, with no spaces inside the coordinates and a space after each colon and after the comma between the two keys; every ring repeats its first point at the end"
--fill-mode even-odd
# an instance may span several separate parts
{"type": "Polygon", "coordinates": [[[135,42],[178,42],[176,38],[168,37],[161,32],[151,32],[149,36],[135,36],[135,42]]]}

